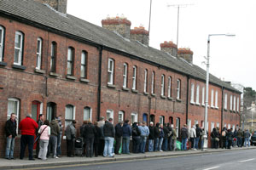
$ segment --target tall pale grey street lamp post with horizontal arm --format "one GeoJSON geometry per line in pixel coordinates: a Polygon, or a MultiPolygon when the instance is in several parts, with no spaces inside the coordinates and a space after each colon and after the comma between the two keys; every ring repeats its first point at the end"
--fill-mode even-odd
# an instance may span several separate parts
{"type": "Polygon", "coordinates": [[[209,96],[209,67],[210,67],[210,37],[211,36],[229,36],[229,37],[234,37],[236,35],[234,34],[209,34],[208,35],[208,40],[207,40],[207,84],[206,84],[206,102],[205,102],[205,122],[204,122],[204,134],[203,134],[203,139],[204,139],[204,144],[202,147],[202,150],[207,150],[207,122],[208,122],[208,96],[209,96]]]}

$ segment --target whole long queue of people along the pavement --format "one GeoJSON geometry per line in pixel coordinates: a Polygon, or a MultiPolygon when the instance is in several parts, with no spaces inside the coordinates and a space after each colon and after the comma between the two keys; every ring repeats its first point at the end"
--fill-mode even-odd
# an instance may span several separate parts
{"type": "MultiPolygon", "coordinates": [[[[15,138],[17,122],[15,114],[10,115],[10,119],[6,122],[5,131],[7,137],[6,159],[15,159],[15,138]]],[[[51,122],[45,120],[44,115],[40,115],[38,122],[32,119],[31,115],[27,115],[19,124],[21,131],[20,138],[20,159],[25,155],[26,145],[28,145],[29,160],[35,160],[32,155],[33,146],[37,144],[36,157],[41,160],[47,160],[51,155],[52,158],[61,157],[61,136],[63,126],[61,124],[61,116],[55,117],[51,122]],[[38,140],[34,142],[35,134],[38,140]]],[[[119,154],[145,153],[153,151],[175,151],[177,150],[177,132],[173,124],[160,124],[157,122],[133,122],[129,120],[119,122],[113,125],[113,118],[105,120],[100,118],[99,122],[84,121],[79,128],[80,135],[77,136],[76,121],[72,121],[65,129],[65,137],[67,141],[67,156],[73,157],[78,155],[78,144],[80,142],[81,156],[109,156],[119,154]],[[79,139],[78,139],[79,138],[79,139]],[[130,141],[132,148],[130,150],[130,141]],[[146,144],[148,142],[148,148],[146,144]]],[[[198,124],[190,129],[186,124],[180,130],[181,147],[179,150],[199,150],[204,144],[203,134],[204,128],[198,124]]],[[[208,136],[208,132],[207,136],[208,136]]],[[[233,129],[223,128],[222,131],[218,127],[212,129],[211,144],[212,148],[226,148],[250,146],[251,134],[246,129],[241,131],[239,128],[233,132],[233,129]]]]}

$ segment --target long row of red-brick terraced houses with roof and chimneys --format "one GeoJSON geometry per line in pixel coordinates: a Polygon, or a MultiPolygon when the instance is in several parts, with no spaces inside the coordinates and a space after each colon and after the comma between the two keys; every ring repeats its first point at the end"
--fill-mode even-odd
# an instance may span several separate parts
{"type": "MultiPolygon", "coordinates": [[[[67,1],[50,2],[0,0],[1,145],[12,112],[18,122],[62,115],[65,126],[100,116],[203,126],[206,71],[190,49],[151,48],[148,31],[125,18],[95,26],[66,14],[67,1]]],[[[240,94],[210,76],[208,131],[240,125],[240,94]]]]}

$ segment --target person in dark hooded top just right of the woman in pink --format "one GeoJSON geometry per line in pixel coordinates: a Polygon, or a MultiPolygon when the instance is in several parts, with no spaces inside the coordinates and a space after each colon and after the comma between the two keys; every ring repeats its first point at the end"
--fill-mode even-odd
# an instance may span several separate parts
{"type": "Polygon", "coordinates": [[[58,156],[56,156],[58,135],[60,134],[58,117],[55,117],[55,119],[50,122],[49,127],[50,127],[50,136],[49,136],[47,157],[49,157],[50,151],[52,151],[52,157],[59,158],[58,156]]]}

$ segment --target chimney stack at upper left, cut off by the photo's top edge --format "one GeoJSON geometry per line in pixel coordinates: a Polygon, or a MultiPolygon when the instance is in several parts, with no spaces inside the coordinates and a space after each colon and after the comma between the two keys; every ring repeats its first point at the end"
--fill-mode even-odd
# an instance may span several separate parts
{"type": "Polygon", "coordinates": [[[38,3],[47,3],[50,7],[54,8],[63,14],[67,14],[67,0],[34,0],[38,3]]]}

